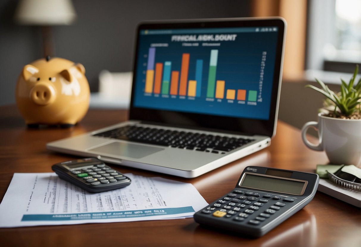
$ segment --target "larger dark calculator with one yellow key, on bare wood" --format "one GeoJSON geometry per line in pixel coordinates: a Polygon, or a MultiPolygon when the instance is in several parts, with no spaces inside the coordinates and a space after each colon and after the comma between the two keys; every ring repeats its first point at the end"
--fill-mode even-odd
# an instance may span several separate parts
{"type": "Polygon", "coordinates": [[[317,174],[248,166],[236,187],[194,214],[202,225],[261,237],[306,206],[317,191],[317,174]]]}

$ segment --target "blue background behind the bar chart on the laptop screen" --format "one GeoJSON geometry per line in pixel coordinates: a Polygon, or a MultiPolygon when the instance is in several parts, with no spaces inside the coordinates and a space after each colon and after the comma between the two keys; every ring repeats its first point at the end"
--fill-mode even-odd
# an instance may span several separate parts
{"type": "MultiPolygon", "coordinates": [[[[169,32],[161,30],[164,34],[157,33],[157,30],[153,30],[155,34],[148,30],[140,30],[134,74],[134,107],[268,120],[278,33],[277,31],[256,32],[255,29],[242,31],[242,28],[239,28],[240,32],[237,32],[235,28],[230,28],[228,32],[227,28],[223,28],[222,31],[210,29],[209,33],[206,32],[210,35],[237,34],[234,41],[171,41],[174,35],[172,30],[168,30],[169,32]],[[184,46],[183,43],[198,43],[198,46],[184,46]],[[203,43],[217,43],[219,46],[203,46],[203,43]],[[157,44],[168,44],[168,46],[158,47],[157,44]],[[164,64],[165,61],[171,61],[171,71],[180,72],[182,54],[189,53],[187,81],[195,80],[196,60],[203,60],[200,97],[169,95],[165,98],[162,94],[145,93],[148,51],[152,46],[156,46],[155,63],[164,64]],[[235,100],[227,100],[226,95],[223,99],[206,97],[212,49],[218,50],[216,80],[225,81],[225,94],[227,89],[236,90],[235,100]],[[237,100],[238,89],[247,90],[244,101],[237,100]],[[248,102],[249,90],[257,91],[256,102],[248,102]]],[[[189,32],[177,31],[177,35],[197,35],[196,33],[195,29],[189,32]]],[[[205,29],[201,29],[200,33],[204,34],[205,29]]]]}

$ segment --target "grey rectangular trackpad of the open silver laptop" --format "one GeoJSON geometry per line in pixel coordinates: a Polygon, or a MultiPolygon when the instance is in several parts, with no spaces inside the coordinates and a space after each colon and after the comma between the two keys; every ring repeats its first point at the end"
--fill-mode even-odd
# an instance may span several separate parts
{"type": "Polygon", "coordinates": [[[164,148],[155,148],[122,142],[112,142],[97,148],[89,149],[89,151],[96,153],[106,153],[138,159],[161,150],[164,150],[164,148]]]}

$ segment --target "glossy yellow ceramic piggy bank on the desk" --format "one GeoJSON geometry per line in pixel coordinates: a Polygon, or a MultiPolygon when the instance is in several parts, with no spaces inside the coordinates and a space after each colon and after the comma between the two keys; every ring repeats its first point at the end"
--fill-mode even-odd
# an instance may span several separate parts
{"type": "Polygon", "coordinates": [[[16,103],[28,127],[71,127],[89,108],[90,89],[85,68],[63,58],[27,64],[16,85],[16,103]]]}

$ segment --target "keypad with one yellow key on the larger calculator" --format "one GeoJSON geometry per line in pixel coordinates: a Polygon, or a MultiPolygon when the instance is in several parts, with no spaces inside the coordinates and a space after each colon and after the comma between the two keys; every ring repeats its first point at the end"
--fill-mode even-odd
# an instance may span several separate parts
{"type": "Polygon", "coordinates": [[[210,217],[260,225],[295,198],[255,191],[234,190],[202,210],[210,217]]]}

